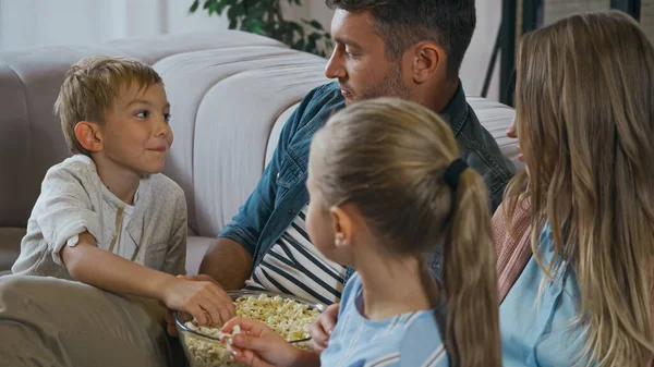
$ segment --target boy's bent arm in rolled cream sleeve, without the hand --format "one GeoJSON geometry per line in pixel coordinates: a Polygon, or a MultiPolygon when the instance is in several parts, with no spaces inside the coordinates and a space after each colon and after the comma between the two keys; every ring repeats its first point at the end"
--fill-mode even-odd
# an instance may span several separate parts
{"type": "Polygon", "coordinates": [[[55,167],[46,174],[39,196],[41,209],[34,215],[48,250],[75,280],[112,292],[155,296],[155,286],[174,277],[97,247],[96,237],[102,230],[90,199],[95,195],[92,174],[83,164],[75,163],[55,167]],[[75,236],[78,236],[76,245],[70,243],[75,236]],[[94,271],[97,273],[93,274],[94,271]],[[134,284],[120,284],[123,278],[134,284]]]}

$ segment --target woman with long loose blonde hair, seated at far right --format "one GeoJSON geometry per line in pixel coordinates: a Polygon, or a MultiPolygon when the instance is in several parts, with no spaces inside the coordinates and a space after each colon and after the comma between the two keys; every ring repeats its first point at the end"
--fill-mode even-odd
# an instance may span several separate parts
{"type": "Polygon", "coordinates": [[[516,106],[529,176],[494,218],[504,365],[649,365],[654,48],[616,11],[525,35],[516,106]]]}

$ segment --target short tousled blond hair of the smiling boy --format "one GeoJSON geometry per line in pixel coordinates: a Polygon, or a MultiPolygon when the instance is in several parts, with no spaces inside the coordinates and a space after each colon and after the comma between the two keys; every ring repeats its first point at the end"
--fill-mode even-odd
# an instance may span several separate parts
{"type": "Polygon", "coordinates": [[[132,83],[147,88],[161,83],[161,77],[140,61],[97,56],[80,60],[65,73],[55,113],[71,152],[90,155],[75,137],[75,125],[80,121],[104,123],[116,98],[132,83]]]}

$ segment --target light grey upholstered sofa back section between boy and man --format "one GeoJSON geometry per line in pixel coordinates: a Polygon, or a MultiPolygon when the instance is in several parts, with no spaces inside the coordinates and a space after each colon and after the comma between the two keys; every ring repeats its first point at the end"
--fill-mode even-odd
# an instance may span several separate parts
{"type": "Polygon", "coordinates": [[[328,82],[325,62],[255,46],[187,52],[154,65],[172,106],[174,144],[165,173],[184,188],[196,233],[217,235],[245,203],[264,170],[274,124],[328,82]]]}

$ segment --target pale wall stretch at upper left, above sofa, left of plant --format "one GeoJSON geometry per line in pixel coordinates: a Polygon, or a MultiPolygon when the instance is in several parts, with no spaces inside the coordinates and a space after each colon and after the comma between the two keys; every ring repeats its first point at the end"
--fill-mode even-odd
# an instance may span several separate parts
{"type": "Polygon", "coordinates": [[[191,0],[0,0],[0,50],[227,28],[191,0]]]}

